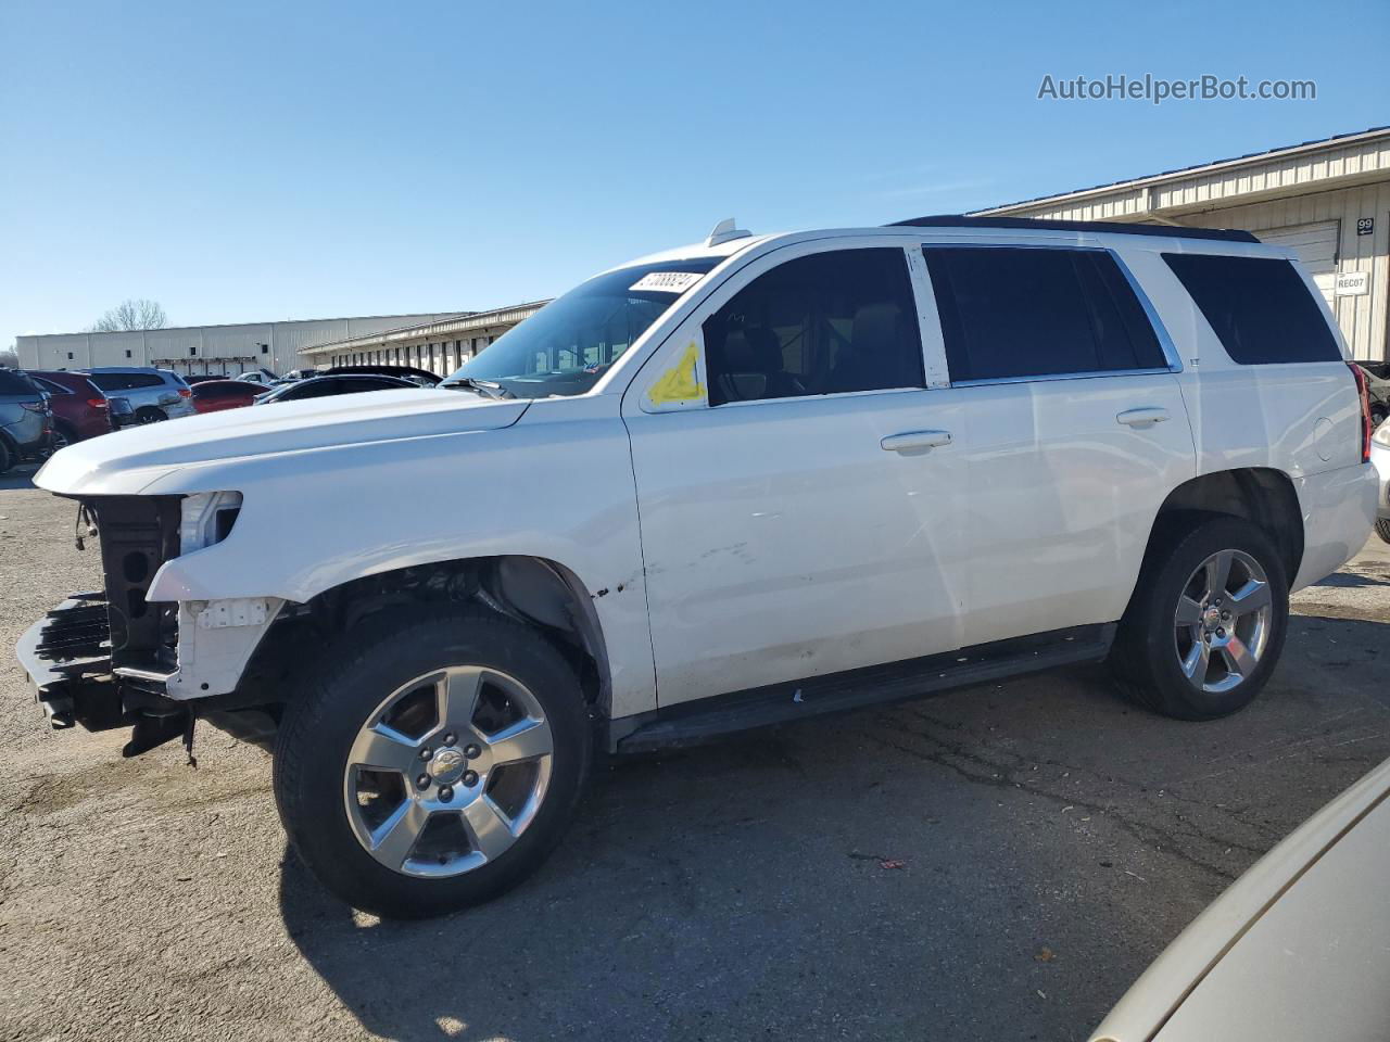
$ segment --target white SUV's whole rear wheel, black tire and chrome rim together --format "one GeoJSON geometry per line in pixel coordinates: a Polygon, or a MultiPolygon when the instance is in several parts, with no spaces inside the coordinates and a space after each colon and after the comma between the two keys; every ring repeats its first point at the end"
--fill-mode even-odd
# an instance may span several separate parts
{"type": "Polygon", "coordinates": [[[1283,561],[1259,528],[1232,517],[1187,522],[1155,532],[1155,539],[1165,549],[1145,559],[1111,650],[1111,668],[1125,695],[1154,713],[1177,720],[1236,713],[1265,686],[1283,652],[1289,631],[1283,561]],[[1211,560],[1218,561],[1215,572],[1207,567],[1211,560]],[[1223,595],[1211,592],[1222,560],[1230,561],[1219,585],[1223,595]],[[1262,585],[1250,585],[1261,577],[1262,585]],[[1248,593],[1237,600],[1233,595],[1243,589],[1248,593]],[[1202,592],[1209,596],[1200,597],[1202,592]],[[1264,611],[1257,607],[1262,600],[1264,611]]]}

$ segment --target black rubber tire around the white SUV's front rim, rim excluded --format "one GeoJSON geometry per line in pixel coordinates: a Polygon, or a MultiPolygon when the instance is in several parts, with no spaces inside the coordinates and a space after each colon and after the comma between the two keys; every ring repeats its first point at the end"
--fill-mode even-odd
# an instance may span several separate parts
{"type": "Polygon", "coordinates": [[[545,638],[475,609],[378,614],[318,663],[285,707],[274,779],[285,832],[325,888],[364,911],[425,918],[496,898],[541,867],[574,818],[594,746],[580,684],[545,638]],[[392,690],[466,664],[517,678],[542,704],[553,738],[549,785],[530,825],[496,860],[448,878],[406,875],[377,861],[352,829],[343,797],[349,749],[392,690]]]}

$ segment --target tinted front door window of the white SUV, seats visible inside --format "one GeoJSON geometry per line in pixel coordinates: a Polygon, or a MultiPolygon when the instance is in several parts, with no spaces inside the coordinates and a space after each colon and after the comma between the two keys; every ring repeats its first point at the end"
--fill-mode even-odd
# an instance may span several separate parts
{"type": "Polygon", "coordinates": [[[710,406],[926,386],[908,264],[891,247],[787,261],[703,332],[710,406]]]}

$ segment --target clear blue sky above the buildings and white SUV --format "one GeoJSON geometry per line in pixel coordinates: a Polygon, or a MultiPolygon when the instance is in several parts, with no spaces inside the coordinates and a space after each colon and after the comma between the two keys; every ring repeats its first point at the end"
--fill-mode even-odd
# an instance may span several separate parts
{"type": "Polygon", "coordinates": [[[495,307],[702,238],[881,224],[1390,122],[1390,6],[4,0],[0,346],[495,307]],[[1316,15],[1316,17],[1315,17],[1316,15]],[[1040,101],[1044,74],[1315,101],[1040,101]]]}

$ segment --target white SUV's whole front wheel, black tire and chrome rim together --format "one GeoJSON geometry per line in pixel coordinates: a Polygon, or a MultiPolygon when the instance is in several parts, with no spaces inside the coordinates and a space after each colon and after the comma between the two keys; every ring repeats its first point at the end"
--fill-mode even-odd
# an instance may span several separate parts
{"type": "MultiPolygon", "coordinates": [[[[325,888],[353,907],[382,917],[425,918],[496,898],[539,868],[574,818],[594,746],[580,684],[548,640],[534,629],[491,611],[417,610],[370,617],[317,661],[321,664],[317,675],[302,685],[285,707],[275,746],[274,779],[275,802],[291,845],[325,888]],[[455,690],[455,672],[439,688],[434,688],[432,681],[424,681],[423,686],[411,689],[411,685],[445,668],[453,668],[459,675],[477,672],[484,678],[478,686],[481,695],[473,703],[478,709],[471,710],[464,725],[473,728],[471,741],[457,734],[452,735],[455,742],[450,745],[442,713],[424,729],[411,729],[402,722],[421,706],[443,704],[445,695],[441,692],[455,690]],[[502,686],[489,686],[493,684],[502,686]],[[414,693],[400,696],[400,690],[414,693]],[[517,697],[513,699],[513,695],[517,697]],[[391,710],[399,716],[381,716],[384,700],[391,699],[399,699],[391,710]],[[542,754],[521,760],[514,767],[491,763],[493,752],[503,747],[502,732],[492,734],[475,721],[485,707],[492,711],[499,704],[513,709],[532,706],[530,714],[523,710],[521,721],[507,725],[512,729],[539,713],[541,722],[549,727],[552,750],[548,759],[542,754]],[[349,766],[349,760],[359,761],[357,757],[375,761],[374,753],[359,752],[367,747],[363,742],[377,741],[377,735],[366,736],[367,725],[374,720],[379,720],[379,727],[389,720],[392,728],[410,731],[411,741],[418,738],[434,752],[430,761],[407,757],[410,766],[399,774],[349,766]],[[430,727],[435,729],[431,732],[430,727]],[[460,760],[460,753],[482,759],[460,760]],[[441,767],[446,759],[450,759],[449,767],[441,767]],[[450,774],[468,764],[477,766],[480,772],[468,770],[456,778],[450,774]],[[435,784],[420,789],[428,778],[427,771],[436,770],[435,784]],[[548,775],[542,778],[546,770],[548,775]],[[525,807],[514,818],[521,821],[525,816],[524,824],[517,828],[505,824],[506,838],[499,841],[496,836],[502,834],[496,832],[491,813],[499,806],[493,795],[500,792],[500,782],[516,778],[521,779],[521,789],[541,779],[539,795],[531,791],[525,807]],[[361,804],[360,796],[352,799],[354,786],[359,793],[364,788],[375,792],[361,804]],[[396,807],[373,832],[368,810],[377,800],[385,807],[395,806],[398,791],[402,793],[400,807],[406,807],[404,816],[396,807]],[[484,792],[488,796],[480,795],[484,792]],[[432,806],[430,800],[445,800],[446,796],[446,806],[421,810],[432,806]],[[467,802],[468,809],[456,813],[456,802],[467,802]],[[492,824],[482,828],[468,824],[474,811],[492,824]],[[389,835],[389,822],[399,820],[402,825],[416,828],[411,816],[417,814],[423,814],[428,824],[410,841],[413,845],[404,847],[404,861],[398,868],[378,860],[384,854],[368,850],[367,834],[374,838],[386,832],[378,849],[396,846],[399,853],[399,845],[389,835]],[[359,839],[359,835],[364,838],[359,839]],[[484,852],[485,843],[478,841],[484,835],[492,836],[488,842],[500,847],[499,853],[488,856],[484,852]],[[421,854],[425,847],[443,852],[438,854],[438,864],[448,861],[446,867],[435,867],[435,853],[421,854]],[[456,874],[430,878],[421,874],[425,871],[456,874]]],[[[391,746],[391,756],[396,756],[398,747],[386,745],[391,746]]],[[[421,746],[411,747],[418,750],[421,746]]],[[[496,759],[500,764],[502,754],[498,753],[496,759]]],[[[506,817],[498,816],[498,820],[509,822],[506,817]]]]}

